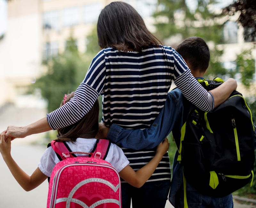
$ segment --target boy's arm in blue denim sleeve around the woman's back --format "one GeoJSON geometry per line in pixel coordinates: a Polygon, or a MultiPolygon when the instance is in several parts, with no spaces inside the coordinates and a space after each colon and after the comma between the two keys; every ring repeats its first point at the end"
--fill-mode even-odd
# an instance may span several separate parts
{"type": "Polygon", "coordinates": [[[124,148],[152,149],[160,144],[165,137],[172,131],[180,117],[180,112],[183,106],[175,102],[173,97],[168,94],[164,108],[158,114],[154,123],[149,129],[145,130],[130,130],[124,129],[116,124],[106,127],[100,124],[101,134],[97,138],[106,138],[115,144],[120,144],[124,148]],[[108,131],[109,130],[109,131],[108,131]]]}

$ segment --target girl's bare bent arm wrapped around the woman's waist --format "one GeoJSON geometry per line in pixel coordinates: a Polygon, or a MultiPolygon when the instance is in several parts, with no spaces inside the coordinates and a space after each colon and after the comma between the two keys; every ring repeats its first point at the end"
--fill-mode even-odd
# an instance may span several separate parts
{"type": "Polygon", "coordinates": [[[129,165],[127,165],[122,171],[119,172],[120,177],[132,186],[140,188],[156,170],[157,165],[163,158],[164,154],[167,152],[168,148],[169,142],[167,138],[165,138],[164,141],[157,146],[156,155],[152,160],[149,161],[148,164],[136,172],[132,170],[129,165]]]}

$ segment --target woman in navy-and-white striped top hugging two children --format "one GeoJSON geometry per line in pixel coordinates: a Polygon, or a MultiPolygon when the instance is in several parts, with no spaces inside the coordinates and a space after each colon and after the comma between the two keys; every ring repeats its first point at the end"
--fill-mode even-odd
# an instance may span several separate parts
{"type": "MultiPolygon", "coordinates": [[[[124,128],[148,128],[164,106],[172,80],[184,96],[204,111],[210,111],[236,89],[229,79],[207,92],[191,75],[181,56],[171,47],[159,45],[136,10],[124,2],[112,2],[100,13],[98,39],[101,51],[92,60],[74,98],[36,123],[9,126],[5,137],[58,129],[80,120],[101,94],[103,122],[124,128]]],[[[155,149],[123,149],[134,170],[147,164],[155,149]]],[[[123,208],[164,207],[170,188],[169,157],[164,155],[154,174],[141,188],[122,184],[123,208]]]]}

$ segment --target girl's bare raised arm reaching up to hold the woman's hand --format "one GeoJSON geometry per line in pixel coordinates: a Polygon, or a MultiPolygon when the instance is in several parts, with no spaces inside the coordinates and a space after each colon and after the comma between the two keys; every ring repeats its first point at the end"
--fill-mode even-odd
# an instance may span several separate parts
{"type": "Polygon", "coordinates": [[[38,187],[47,179],[47,176],[44,175],[39,168],[37,168],[31,176],[25,173],[11,156],[11,137],[8,137],[7,142],[5,142],[4,134],[5,131],[1,133],[0,152],[13,177],[25,191],[30,191],[38,187]]]}

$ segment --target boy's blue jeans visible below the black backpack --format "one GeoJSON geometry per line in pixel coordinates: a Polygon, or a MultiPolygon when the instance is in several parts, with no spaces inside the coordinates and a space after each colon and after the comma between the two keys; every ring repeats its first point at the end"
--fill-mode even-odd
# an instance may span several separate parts
{"type": "MultiPolygon", "coordinates": [[[[228,196],[215,198],[211,196],[203,195],[193,188],[187,182],[187,202],[188,208],[233,208],[232,194],[228,196]]],[[[184,189],[183,187],[176,193],[176,208],[184,208],[184,189]],[[178,198],[179,197],[179,198],[178,198]],[[177,203],[180,202],[180,203],[177,203]]]]}

